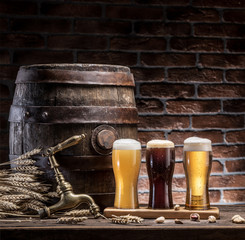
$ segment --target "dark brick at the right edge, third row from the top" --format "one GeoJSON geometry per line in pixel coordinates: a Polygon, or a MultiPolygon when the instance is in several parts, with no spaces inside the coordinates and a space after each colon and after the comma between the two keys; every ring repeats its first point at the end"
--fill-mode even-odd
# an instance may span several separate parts
{"type": "Polygon", "coordinates": [[[244,24],[195,24],[196,36],[207,37],[244,37],[244,24]]]}

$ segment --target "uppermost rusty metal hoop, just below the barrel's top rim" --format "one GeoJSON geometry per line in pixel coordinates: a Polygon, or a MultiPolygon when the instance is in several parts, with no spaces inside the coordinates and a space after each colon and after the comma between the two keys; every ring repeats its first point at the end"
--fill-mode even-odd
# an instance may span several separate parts
{"type": "Polygon", "coordinates": [[[80,85],[135,86],[129,72],[72,71],[59,69],[25,69],[18,71],[16,84],[69,83],[80,85]]]}

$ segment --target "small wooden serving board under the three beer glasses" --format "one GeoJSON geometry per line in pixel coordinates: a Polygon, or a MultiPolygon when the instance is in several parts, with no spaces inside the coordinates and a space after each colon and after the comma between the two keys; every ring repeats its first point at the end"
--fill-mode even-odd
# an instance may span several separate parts
{"type": "Polygon", "coordinates": [[[217,207],[211,207],[208,210],[187,210],[184,207],[180,207],[180,210],[174,209],[149,209],[146,207],[140,207],[137,209],[118,209],[108,207],[104,209],[104,216],[111,217],[112,215],[122,216],[131,214],[142,218],[157,218],[163,216],[165,218],[178,218],[189,219],[191,213],[198,213],[201,219],[207,219],[210,215],[219,219],[219,209],[217,207]]]}

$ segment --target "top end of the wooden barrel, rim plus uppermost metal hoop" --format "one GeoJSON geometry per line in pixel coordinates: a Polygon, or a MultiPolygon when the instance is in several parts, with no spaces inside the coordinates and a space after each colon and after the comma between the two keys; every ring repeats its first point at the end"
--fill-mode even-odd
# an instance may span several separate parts
{"type": "Polygon", "coordinates": [[[102,64],[37,64],[22,66],[16,84],[63,83],[134,87],[133,74],[124,66],[102,64]]]}

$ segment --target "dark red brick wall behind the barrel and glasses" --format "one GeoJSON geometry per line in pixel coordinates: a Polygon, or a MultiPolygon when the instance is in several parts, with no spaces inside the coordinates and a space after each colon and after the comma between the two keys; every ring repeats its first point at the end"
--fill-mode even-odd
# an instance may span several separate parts
{"type": "MultiPolygon", "coordinates": [[[[176,144],[174,202],[185,201],[183,141],[196,135],[213,143],[211,201],[245,203],[244,23],[244,1],[1,0],[1,160],[20,65],[126,65],[143,146],[153,138],[176,144]]],[[[139,191],[146,203],[144,158],[139,191]]]]}

